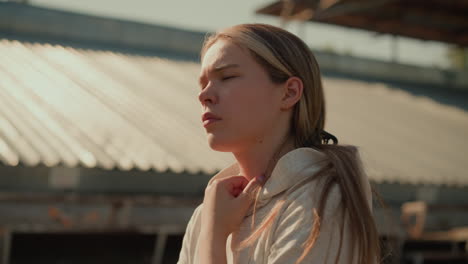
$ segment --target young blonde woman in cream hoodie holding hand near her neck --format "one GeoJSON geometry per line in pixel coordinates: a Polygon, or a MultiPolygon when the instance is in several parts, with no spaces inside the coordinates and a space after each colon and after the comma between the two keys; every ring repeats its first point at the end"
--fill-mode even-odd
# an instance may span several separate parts
{"type": "Polygon", "coordinates": [[[357,148],[324,131],[324,91],[307,45],[274,26],[243,24],[208,38],[201,59],[209,145],[237,162],[208,183],[178,263],[379,262],[369,181],[357,148]]]}

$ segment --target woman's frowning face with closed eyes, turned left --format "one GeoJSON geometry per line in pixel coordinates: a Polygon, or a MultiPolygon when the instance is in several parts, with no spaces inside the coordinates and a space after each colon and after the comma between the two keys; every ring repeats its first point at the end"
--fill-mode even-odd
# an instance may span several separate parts
{"type": "MultiPolygon", "coordinates": [[[[199,100],[210,147],[235,152],[261,144],[280,114],[281,90],[247,49],[218,39],[202,58],[199,100]]],[[[276,124],[277,125],[277,124],[276,124]]]]}

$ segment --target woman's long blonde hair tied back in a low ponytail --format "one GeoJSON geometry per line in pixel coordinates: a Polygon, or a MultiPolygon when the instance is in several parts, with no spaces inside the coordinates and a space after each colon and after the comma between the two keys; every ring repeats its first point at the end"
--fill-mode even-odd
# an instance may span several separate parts
{"type": "MultiPolygon", "coordinates": [[[[350,235],[353,241],[347,242],[357,246],[358,263],[375,263],[380,259],[380,243],[372,209],[369,207],[364,186],[360,181],[365,178],[363,165],[355,146],[338,145],[336,137],[324,130],[325,98],[321,74],[310,49],[300,38],[281,28],[266,24],[241,24],[208,37],[203,45],[201,58],[218,39],[227,39],[249,50],[256,62],[268,72],[273,82],[284,83],[292,76],[300,78],[303,82],[303,95],[294,106],[290,128],[295,147],[318,149],[328,156],[330,162],[309,179],[324,177],[325,184],[318,207],[311,208],[314,222],[304,244],[304,251],[296,263],[304,259],[319,236],[325,201],[334,184],[338,184],[341,192],[342,215],[350,222],[350,235]],[[333,140],[333,145],[328,144],[330,139],[333,140]]],[[[257,199],[259,193],[257,192],[257,199]]],[[[254,203],[252,228],[257,199],[254,203]]],[[[275,204],[259,228],[242,241],[239,248],[251,245],[263,232],[271,231],[273,220],[278,216],[284,202],[281,200],[275,204]]],[[[343,242],[343,226],[344,219],[341,225],[339,252],[343,242]]],[[[355,257],[354,253],[355,251],[351,260],[355,257]]],[[[339,255],[337,254],[337,257],[339,255]]]]}

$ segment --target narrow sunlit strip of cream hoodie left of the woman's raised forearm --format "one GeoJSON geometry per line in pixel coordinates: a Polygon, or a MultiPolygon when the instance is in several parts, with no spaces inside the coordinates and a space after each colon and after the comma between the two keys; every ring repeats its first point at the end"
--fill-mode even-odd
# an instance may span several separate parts
{"type": "Polygon", "coordinates": [[[177,264],[194,264],[196,244],[200,233],[200,211],[203,204],[195,208],[187,224],[177,264]]]}

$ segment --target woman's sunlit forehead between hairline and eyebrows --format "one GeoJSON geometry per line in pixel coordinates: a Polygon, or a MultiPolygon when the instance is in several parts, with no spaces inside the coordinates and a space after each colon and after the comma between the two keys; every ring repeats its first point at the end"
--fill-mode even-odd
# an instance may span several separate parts
{"type": "Polygon", "coordinates": [[[201,67],[202,71],[205,71],[223,64],[245,64],[249,60],[251,60],[251,57],[245,49],[240,48],[231,41],[218,39],[206,51],[201,67]]]}

